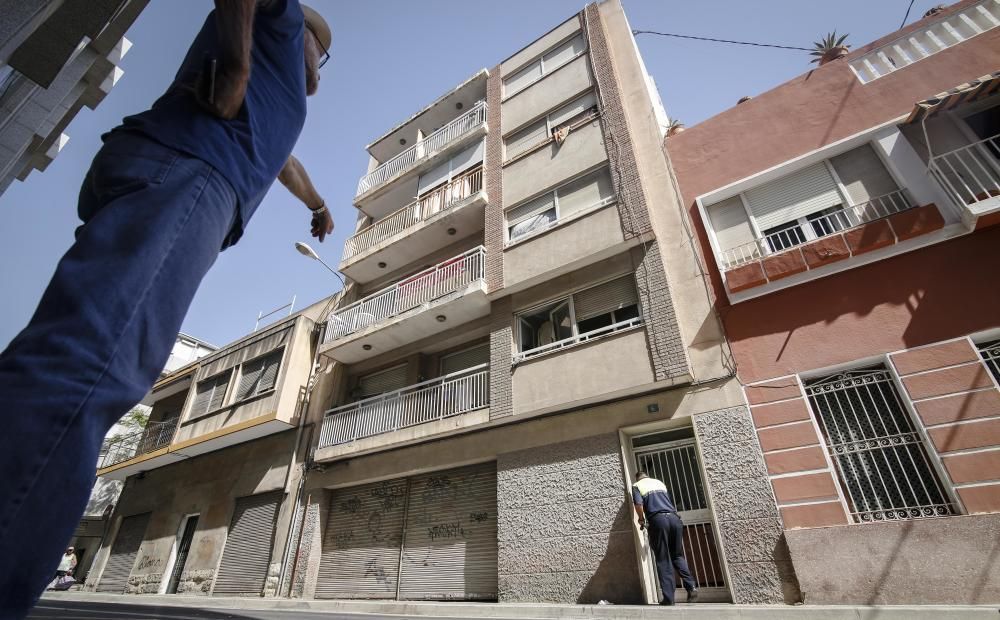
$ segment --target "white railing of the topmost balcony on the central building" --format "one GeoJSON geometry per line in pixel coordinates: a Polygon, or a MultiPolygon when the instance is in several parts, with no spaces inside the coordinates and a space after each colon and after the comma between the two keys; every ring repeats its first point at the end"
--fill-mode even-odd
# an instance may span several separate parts
{"type": "Polygon", "coordinates": [[[473,137],[479,137],[485,133],[486,103],[479,102],[462,116],[361,177],[355,193],[355,202],[360,203],[376,195],[390,181],[421,168],[424,164],[435,160],[445,150],[464,144],[473,137]]]}

